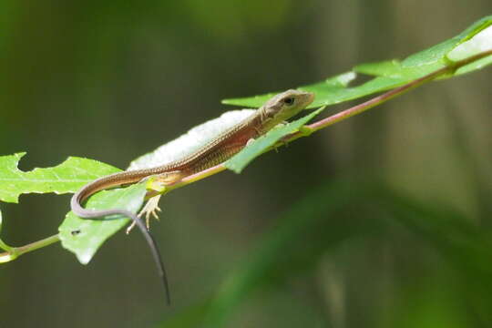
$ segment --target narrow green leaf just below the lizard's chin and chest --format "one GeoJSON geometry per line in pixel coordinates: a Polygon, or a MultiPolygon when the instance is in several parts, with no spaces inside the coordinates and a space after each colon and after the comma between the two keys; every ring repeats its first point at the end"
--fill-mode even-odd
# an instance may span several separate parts
{"type": "Polygon", "coordinates": [[[242,149],[238,154],[224,163],[227,169],[231,169],[236,173],[241,173],[251,160],[260,156],[266,149],[271,148],[282,137],[297,131],[304,124],[309,122],[312,118],[318,115],[324,108],[319,108],[313,113],[306,115],[303,118],[299,118],[295,121],[282,125],[278,128],[273,128],[264,136],[257,138],[250,145],[242,149]]]}

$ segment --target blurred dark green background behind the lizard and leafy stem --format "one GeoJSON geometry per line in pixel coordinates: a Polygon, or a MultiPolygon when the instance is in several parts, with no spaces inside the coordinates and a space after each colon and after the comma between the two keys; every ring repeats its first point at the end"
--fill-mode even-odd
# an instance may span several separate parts
{"type": "MultiPolygon", "coordinates": [[[[0,5],[0,154],[126,168],[227,108],[407,55],[482,1],[15,1],[0,5]]],[[[490,68],[170,193],[153,233],[89,265],[59,244],[0,266],[1,327],[491,327],[490,68]]],[[[346,108],[349,104],[341,107],[346,108]]],[[[329,114],[327,110],[325,113],[329,114]]],[[[56,232],[69,195],[0,204],[3,239],[56,232]]]]}

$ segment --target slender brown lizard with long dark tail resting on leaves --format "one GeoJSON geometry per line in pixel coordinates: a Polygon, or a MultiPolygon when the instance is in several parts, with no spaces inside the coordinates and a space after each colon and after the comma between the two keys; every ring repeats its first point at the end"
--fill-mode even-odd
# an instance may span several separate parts
{"type": "MultiPolygon", "coordinates": [[[[139,219],[142,212],[135,215],[128,210],[121,209],[85,209],[82,206],[83,201],[87,200],[87,198],[97,191],[138,183],[150,177],[157,177],[164,184],[171,184],[191,174],[209,169],[230,159],[252,139],[264,135],[275,126],[284,123],[287,119],[298,114],[302,109],[310,105],[313,99],[314,95],[310,92],[294,89],[284,91],[271,97],[261,108],[254,111],[251,116],[244,118],[231,128],[226,129],[216,138],[212,138],[203,147],[200,147],[200,149],[182,159],[177,159],[154,168],[135,169],[110,174],[87,183],[73,195],[70,201],[71,210],[79,218],[88,220],[105,220],[105,217],[114,215],[123,215],[130,218],[133,221],[132,224],[138,226],[138,229],[142,232],[149,244],[150,251],[158,267],[159,276],[164,284],[166,300],[170,303],[169,283],[164,264],[161,260],[157,242],[142,220],[139,219]]],[[[152,200],[154,198],[159,200],[159,195],[156,195],[155,191],[148,190],[147,196],[146,199],[150,198],[152,200]]],[[[151,204],[151,206],[144,208],[144,210],[148,215],[149,213],[155,215],[156,208],[159,209],[157,207],[158,201],[149,201],[148,204],[151,204]]]]}

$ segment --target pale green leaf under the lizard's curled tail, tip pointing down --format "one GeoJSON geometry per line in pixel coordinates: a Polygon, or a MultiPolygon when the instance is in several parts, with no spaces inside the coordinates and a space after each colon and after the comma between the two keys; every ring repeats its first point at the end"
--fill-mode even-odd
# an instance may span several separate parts
{"type": "MultiPolygon", "coordinates": [[[[98,210],[121,209],[135,213],[142,206],[146,192],[144,183],[125,189],[100,191],[87,201],[86,207],[98,210]]],[[[128,220],[121,215],[115,215],[111,220],[84,220],[70,211],[58,228],[59,237],[64,248],[74,252],[82,264],[87,264],[104,241],[123,228],[128,220]]]]}

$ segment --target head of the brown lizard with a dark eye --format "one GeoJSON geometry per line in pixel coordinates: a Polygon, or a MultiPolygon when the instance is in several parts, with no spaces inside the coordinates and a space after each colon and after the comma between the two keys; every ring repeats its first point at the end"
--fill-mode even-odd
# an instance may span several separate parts
{"type": "Polygon", "coordinates": [[[287,90],[268,100],[263,108],[264,115],[279,124],[292,118],[313,102],[314,94],[299,90],[287,90]]]}

